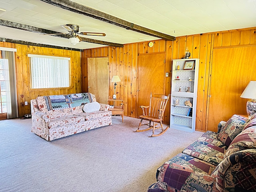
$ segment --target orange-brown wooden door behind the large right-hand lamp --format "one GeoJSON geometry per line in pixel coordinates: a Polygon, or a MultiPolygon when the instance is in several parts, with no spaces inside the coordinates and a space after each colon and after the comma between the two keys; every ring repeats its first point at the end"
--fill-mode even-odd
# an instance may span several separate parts
{"type": "Polygon", "coordinates": [[[213,50],[207,130],[217,131],[221,120],[233,114],[247,114],[248,99],[240,95],[255,81],[256,46],[213,50]]]}

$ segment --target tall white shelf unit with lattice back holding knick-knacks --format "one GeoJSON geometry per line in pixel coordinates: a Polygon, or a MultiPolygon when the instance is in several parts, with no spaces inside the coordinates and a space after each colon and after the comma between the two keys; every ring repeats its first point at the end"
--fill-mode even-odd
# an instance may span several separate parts
{"type": "Polygon", "coordinates": [[[170,128],[187,132],[195,131],[198,68],[199,59],[175,59],[172,61],[170,128]],[[195,61],[194,69],[183,70],[185,62],[192,60],[195,61]],[[179,66],[179,70],[177,66],[179,66]],[[179,80],[177,80],[177,76],[179,80]],[[187,92],[188,87],[190,92],[187,92]],[[185,105],[185,101],[188,100],[192,103],[191,107],[185,105]]]}

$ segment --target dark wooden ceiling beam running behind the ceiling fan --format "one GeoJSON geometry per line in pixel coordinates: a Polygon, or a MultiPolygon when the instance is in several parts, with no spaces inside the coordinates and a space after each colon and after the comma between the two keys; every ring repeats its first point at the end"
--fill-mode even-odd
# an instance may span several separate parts
{"type": "MultiPolygon", "coordinates": [[[[21,30],[25,30],[25,31],[29,31],[29,32],[40,33],[40,34],[61,33],[61,32],[57,32],[57,31],[42,29],[42,28],[25,25],[25,24],[20,24],[20,23],[16,23],[16,22],[11,22],[11,21],[7,21],[7,20],[2,20],[2,19],[0,19],[0,26],[11,27],[11,28],[15,28],[15,29],[21,29],[21,30]]],[[[68,35],[68,34],[58,34],[58,35],[52,35],[52,36],[67,38],[67,39],[70,38],[70,35],[68,35]]],[[[124,46],[123,44],[119,44],[119,43],[100,41],[100,40],[84,38],[84,37],[81,37],[81,39],[84,42],[107,45],[107,46],[115,46],[115,47],[123,47],[124,46]]]]}

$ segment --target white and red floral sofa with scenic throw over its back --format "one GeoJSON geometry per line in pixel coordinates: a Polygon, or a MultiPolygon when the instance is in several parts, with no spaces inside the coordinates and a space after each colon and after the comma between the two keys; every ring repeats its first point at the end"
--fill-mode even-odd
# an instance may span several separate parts
{"type": "Polygon", "coordinates": [[[97,103],[94,94],[38,96],[31,100],[32,128],[38,136],[51,141],[72,134],[112,124],[109,105],[84,112],[84,106],[97,103]]]}

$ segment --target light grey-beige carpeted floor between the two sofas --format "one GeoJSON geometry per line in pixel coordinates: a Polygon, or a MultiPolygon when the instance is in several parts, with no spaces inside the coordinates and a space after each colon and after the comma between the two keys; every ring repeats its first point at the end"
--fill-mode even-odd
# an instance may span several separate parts
{"type": "Polygon", "coordinates": [[[146,192],[156,169],[202,135],[134,132],[139,119],[47,142],[31,119],[0,121],[0,192],[146,192]]]}

